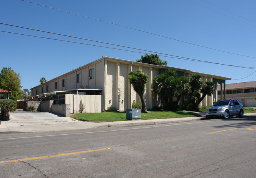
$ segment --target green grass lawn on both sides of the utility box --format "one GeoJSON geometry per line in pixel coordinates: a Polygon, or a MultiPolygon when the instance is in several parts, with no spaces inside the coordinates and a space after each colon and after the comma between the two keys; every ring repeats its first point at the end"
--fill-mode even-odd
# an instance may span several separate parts
{"type": "MultiPolygon", "coordinates": [[[[200,115],[184,111],[150,111],[150,113],[141,113],[141,120],[145,119],[165,119],[177,117],[197,117],[200,115]]],[[[71,116],[74,119],[89,122],[113,122],[129,121],[126,120],[126,112],[104,112],[104,113],[79,113],[71,116]]]]}

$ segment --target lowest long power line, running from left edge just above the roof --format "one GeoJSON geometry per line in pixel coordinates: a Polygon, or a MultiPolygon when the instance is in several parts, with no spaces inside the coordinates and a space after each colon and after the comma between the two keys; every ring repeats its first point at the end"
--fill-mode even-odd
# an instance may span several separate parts
{"type": "MultiPolygon", "coordinates": [[[[25,36],[30,36],[30,37],[38,37],[38,38],[43,38],[43,39],[51,39],[51,40],[56,40],[56,41],[64,41],[64,42],[76,43],[76,44],[82,44],[82,45],[90,45],[90,46],[96,46],[96,47],[102,47],[102,48],[110,48],[110,49],[115,49],[115,50],[123,50],[123,51],[128,51],[128,52],[148,54],[148,53],[144,53],[144,52],[124,50],[124,49],[120,49],[120,48],[111,48],[111,47],[107,47],[107,46],[91,45],[91,44],[86,44],[86,43],[79,43],[79,42],[74,42],[74,41],[67,41],[67,40],[54,39],[54,38],[48,38],[48,37],[40,37],[40,36],[35,36],[35,35],[27,35],[27,34],[22,34],[22,33],[6,32],[6,31],[2,31],[2,30],[0,30],[0,32],[12,33],[12,34],[18,34],[18,35],[25,35],[25,36]]],[[[99,42],[99,43],[104,43],[104,42],[99,42]]],[[[105,43],[105,44],[108,44],[108,43],[105,43]]],[[[112,45],[114,45],[114,44],[112,44],[112,45]]],[[[117,46],[120,46],[120,45],[117,45],[117,46]]],[[[128,46],[123,46],[123,47],[132,48],[132,47],[128,47],[128,46]]],[[[141,51],[145,51],[145,52],[153,52],[153,53],[157,53],[157,54],[168,55],[168,56],[163,56],[163,57],[169,57],[169,58],[174,58],[174,59],[183,59],[183,60],[188,60],[188,61],[197,61],[197,62],[203,62],[203,63],[212,63],[212,64],[217,64],[217,65],[225,65],[225,66],[231,66],[231,67],[239,67],[239,68],[255,69],[256,70],[255,67],[244,67],[244,66],[228,65],[228,64],[222,64],[222,63],[213,63],[213,62],[210,62],[210,61],[202,61],[202,60],[192,59],[192,58],[187,58],[187,57],[174,56],[174,55],[171,55],[171,54],[164,54],[164,53],[160,53],[160,52],[143,50],[143,49],[139,49],[139,48],[132,48],[132,49],[137,49],[137,50],[141,50],[141,51]]]]}

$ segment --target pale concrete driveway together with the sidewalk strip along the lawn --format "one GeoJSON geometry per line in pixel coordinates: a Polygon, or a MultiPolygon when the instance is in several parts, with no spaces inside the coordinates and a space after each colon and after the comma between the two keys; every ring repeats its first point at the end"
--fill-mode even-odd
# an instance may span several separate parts
{"type": "Polygon", "coordinates": [[[1,122],[0,132],[50,132],[61,130],[100,128],[109,126],[139,126],[171,122],[197,121],[205,118],[204,113],[198,114],[202,116],[95,123],[78,121],[76,119],[70,117],[63,117],[61,115],[56,115],[54,113],[15,111],[15,113],[10,113],[9,121],[1,122]]]}

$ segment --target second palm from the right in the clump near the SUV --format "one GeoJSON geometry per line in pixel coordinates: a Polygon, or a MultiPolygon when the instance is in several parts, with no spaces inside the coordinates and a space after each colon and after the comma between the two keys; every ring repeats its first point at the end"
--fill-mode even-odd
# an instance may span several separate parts
{"type": "Polygon", "coordinates": [[[198,93],[199,89],[202,87],[202,80],[199,74],[193,74],[189,77],[189,85],[191,86],[191,93],[189,96],[189,103],[191,103],[192,97],[195,93],[198,93]]]}

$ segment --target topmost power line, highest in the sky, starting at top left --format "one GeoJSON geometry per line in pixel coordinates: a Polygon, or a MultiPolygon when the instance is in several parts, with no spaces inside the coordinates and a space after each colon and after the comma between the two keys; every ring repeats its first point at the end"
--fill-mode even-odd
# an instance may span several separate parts
{"type": "Polygon", "coordinates": [[[21,1],[28,2],[28,3],[31,3],[31,4],[35,4],[35,5],[38,5],[38,6],[48,7],[50,9],[55,9],[55,10],[58,10],[58,11],[63,11],[63,12],[70,13],[70,14],[73,14],[73,15],[79,15],[79,16],[82,16],[82,17],[86,17],[86,18],[93,19],[93,20],[98,20],[98,21],[101,21],[101,22],[106,22],[106,23],[117,25],[117,26],[121,26],[121,27],[124,27],[124,28],[129,28],[129,29],[136,30],[136,31],[139,31],[139,32],[148,33],[148,34],[151,34],[151,35],[156,35],[156,36],[159,36],[159,37],[163,37],[163,38],[179,41],[179,42],[182,42],[182,43],[187,43],[189,45],[195,45],[195,46],[199,46],[199,47],[202,47],[202,48],[207,48],[207,49],[216,50],[216,51],[220,51],[220,52],[225,52],[225,53],[228,53],[228,54],[234,54],[234,55],[238,55],[238,56],[256,58],[256,57],[252,57],[252,56],[246,56],[246,55],[243,55],[243,54],[236,54],[236,53],[232,53],[232,52],[218,50],[218,49],[210,48],[210,47],[207,47],[207,46],[197,45],[197,44],[194,44],[194,43],[189,43],[189,42],[178,40],[178,39],[174,39],[174,38],[171,38],[171,37],[166,37],[166,36],[163,36],[163,35],[158,35],[156,33],[151,33],[151,32],[139,30],[139,29],[136,29],[136,28],[131,28],[131,27],[128,27],[128,26],[123,26],[123,25],[116,24],[116,23],[113,23],[113,22],[108,22],[108,21],[105,21],[105,20],[95,19],[93,17],[88,17],[88,16],[85,16],[85,15],[81,15],[81,14],[77,14],[77,13],[72,13],[72,12],[61,10],[61,9],[57,9],[57,8],[54,8],[54,7],[44,6],[42,4],[36,4],[34,2],[29,2],[29,1],[26,1],[26,0],[21,0],[21,1]]]}

